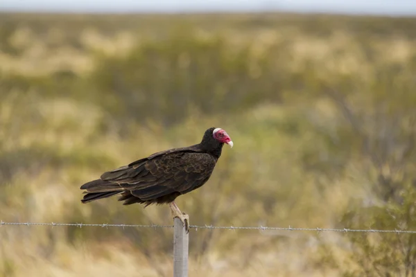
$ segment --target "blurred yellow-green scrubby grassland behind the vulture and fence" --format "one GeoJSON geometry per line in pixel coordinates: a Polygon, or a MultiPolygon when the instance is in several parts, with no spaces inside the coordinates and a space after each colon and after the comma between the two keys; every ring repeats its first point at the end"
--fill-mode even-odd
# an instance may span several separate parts
{"type": "MultiPolygon", "coordinates": [[[[416,229],[415,76],[414,18],[1,14],[0,220],[171,224],[164,206],[80,204],[79,186],[222,127],[234,148],[177,200],[191,224],[416,229]]],[[[171,229],[0,238],[0,276],[172,271],[171,229]]],[[[354,244],[380,238],[193,230],[190,276],[401,272],[381,238],[398,269],[354,244]]]]}

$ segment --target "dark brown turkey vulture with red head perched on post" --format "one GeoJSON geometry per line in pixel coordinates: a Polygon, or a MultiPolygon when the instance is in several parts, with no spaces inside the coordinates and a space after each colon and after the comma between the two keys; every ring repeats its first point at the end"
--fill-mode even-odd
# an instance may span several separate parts
{"type": "Polygon", "coordinates": [[[121,195],[123,205],[168,204],[172,216],[179,217],[189,231],[189,216],[180,211],[175,199],[208,181],[224,143],[233,146],[225,130],[211,127],[196,145],[157,152],[83,184],[80,189],[86,191],[81,202],[121,195]]]}

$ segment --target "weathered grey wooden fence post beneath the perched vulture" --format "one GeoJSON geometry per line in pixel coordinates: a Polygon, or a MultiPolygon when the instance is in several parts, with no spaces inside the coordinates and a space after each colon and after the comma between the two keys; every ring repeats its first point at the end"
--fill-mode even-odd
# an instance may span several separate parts
{"type": "Polygon", "coordinates": [[[173,222],[173,277],[188,277],[189,234],[179,218],[173,222]]]}

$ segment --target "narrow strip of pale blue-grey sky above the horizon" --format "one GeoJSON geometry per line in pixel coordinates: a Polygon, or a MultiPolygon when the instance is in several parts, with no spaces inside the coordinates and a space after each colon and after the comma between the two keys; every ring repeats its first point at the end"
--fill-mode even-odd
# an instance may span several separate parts
{"type": "Polygon", "coordinates": [[[0,0],[1,11],[212,12],[286,10],[416,15],[416,0],[0,0]]]}

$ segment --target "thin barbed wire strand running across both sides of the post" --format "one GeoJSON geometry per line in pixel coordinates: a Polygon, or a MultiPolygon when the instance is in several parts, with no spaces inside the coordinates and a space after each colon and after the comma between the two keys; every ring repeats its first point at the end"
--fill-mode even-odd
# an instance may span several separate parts
{"type": "MultiPolygon", "coordinates": [[[[125,228],[173,228],[173,225],[157,225],[157,224],[85,224],[85,223],[55,223],[55,222],[3,222],[0,226],[74,226],[74,227],[121,227],[125,228]]],[[[213,225],[189,225],[189,229],[227,229],[227,230],[259,230],[259,231],[315,231],[315,232],[339,232],[339,233],[416,233],[413,230],[377,230],[377,229],[333,229],[333,228],[293,228],[288,227],[267,227],[267,226],[213,226],[213,225]]]]}

